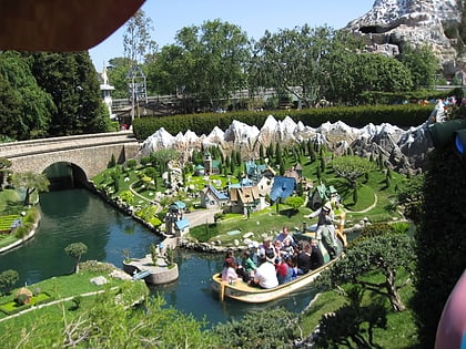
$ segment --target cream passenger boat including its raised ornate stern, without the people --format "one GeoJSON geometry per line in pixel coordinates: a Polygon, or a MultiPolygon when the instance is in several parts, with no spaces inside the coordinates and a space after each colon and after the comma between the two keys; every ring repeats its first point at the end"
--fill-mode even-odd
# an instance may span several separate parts
{"type": "MultiPolygon", "coordinates": [[[[327,269],[343,255],[343,247],[346,245],[346,236],[343,230],[344,228],[344,214],[341,215],[341,224],[335,229],[336,243],[338,245],[338,254],[335,259],[331,259],[327,250],[321,240],[318,240],[318,247],[321,248],[324,256],[324,265],[317,269],[310,270],[305,275],[297,276],[296,279],[278,285],[277,287],[264,289],[255,286],[247,285],[242,279],[235,280],[234,283],[223,281],[221,274],[216,273],[212,276],[212,289],[219,294],[219,298],[223,301],[225,298],[235,299],[242,302],[260,304],[266,302],[274,299],[282,298],[294,291],[297,291],[306,286],[310,286],[323,270],[327,269]]],[[[311,239],[315,237],[314,227],[303,227],[303,232],[294,234],[297,240],[311,239]]]]}

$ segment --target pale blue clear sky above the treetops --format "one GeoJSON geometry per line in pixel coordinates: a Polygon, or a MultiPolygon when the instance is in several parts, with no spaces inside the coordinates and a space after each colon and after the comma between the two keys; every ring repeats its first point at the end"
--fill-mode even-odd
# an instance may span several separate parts
{"type": "MultiPolygon", "coordinates": [[[[306,23],[312,28],[326,24],[340,29],[365,14],[373,4],[374,0],[146,0],[141,9],[152,20],[151,39],[162,48],[174,43],[183,27],[200,27],[209,20],[239,25],[249,38],[259,40],[265,30],[273,33],[306,23]]],[[[123,57],[125,28],[123,24],[89,50],[98,71],[110,59],[123,57]]]]}

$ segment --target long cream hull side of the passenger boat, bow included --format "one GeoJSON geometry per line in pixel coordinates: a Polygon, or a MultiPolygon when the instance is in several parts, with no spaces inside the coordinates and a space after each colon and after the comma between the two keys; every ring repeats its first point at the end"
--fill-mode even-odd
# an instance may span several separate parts
{"type": "Polygon", "coordinates": [[[219,274],[212,276],[212,288],[219,294],[220,300],[224,298],[231,298],[243,302],[260,304],[271,301],[283,296],[290,295],[310,284],[328,266],[335,263],[337,259],[333,259],[322,267],[311,270],[306,275],[298,276],[295,280],[280,285],[271,289],[263,289],[259,287],[249,286],[243,280],[237,280],[233,285],[226,281],[222,281],[219,274]]]}

